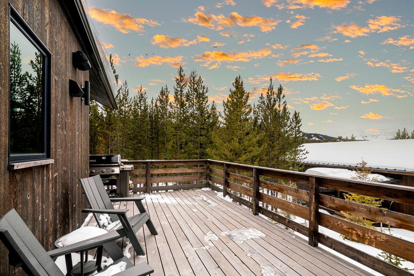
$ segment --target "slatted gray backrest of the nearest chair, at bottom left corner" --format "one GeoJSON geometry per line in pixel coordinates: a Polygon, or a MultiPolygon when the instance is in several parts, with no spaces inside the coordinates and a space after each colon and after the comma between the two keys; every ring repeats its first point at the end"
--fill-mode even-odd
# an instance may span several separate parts
{"type": "Polygon", "coordinates": [[[63,276],[40,242],[31,233],[17,211],[0,218],[0,239],[9,250],[9,258],[22,262],[24,271],[36,276],[63,276]],[[6,231],[3,231],[6,230],[6,231]]]}

